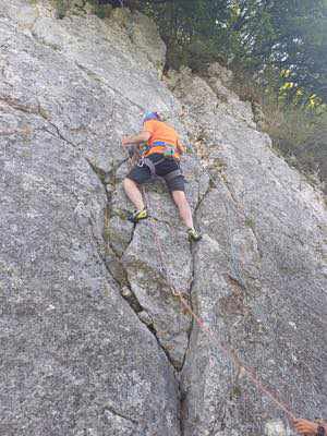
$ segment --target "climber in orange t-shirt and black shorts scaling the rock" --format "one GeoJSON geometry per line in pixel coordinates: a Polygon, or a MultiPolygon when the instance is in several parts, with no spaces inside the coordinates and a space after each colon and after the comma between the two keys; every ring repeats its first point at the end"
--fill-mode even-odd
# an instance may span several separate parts
{"type": "Polygon", "coordinates": [[[143,130],[134,136],[122,138],[123,147],[136,146],[141,159],[123,181],[124,191],[136,210],[131,221],[138,222],[148,217],[142,193],[138,189],[154,175],[162,177],[179,209],[181,219],[187,227],[191,241],[199,241],[202,235],[194,229],[192,211],[185,196],[184,178],[180,168],[180,156],[185,152],[173,128],[161,121],[157,112],[145,112],[143,130]]]}

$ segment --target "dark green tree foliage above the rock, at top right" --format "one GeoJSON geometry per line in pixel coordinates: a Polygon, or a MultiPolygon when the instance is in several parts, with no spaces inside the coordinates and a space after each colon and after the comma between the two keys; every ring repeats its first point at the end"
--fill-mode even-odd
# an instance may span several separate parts
{"type": "Polygon", "coordinates": [[[208,62],[220,59],[262,81],[266,70],[274,69],[277,76],[289,71],[281,81],[293,84],[289,99],[300,88],[306,98],[316,94],[327,100],[327,0],[126,0],[125,4],[157,21],[168,47],[168,66],[205,70],[208,62]]]}

